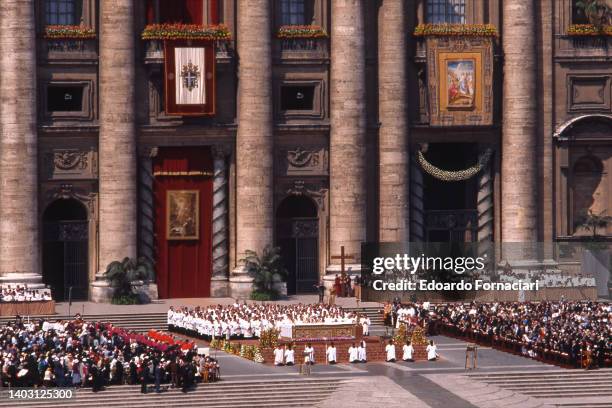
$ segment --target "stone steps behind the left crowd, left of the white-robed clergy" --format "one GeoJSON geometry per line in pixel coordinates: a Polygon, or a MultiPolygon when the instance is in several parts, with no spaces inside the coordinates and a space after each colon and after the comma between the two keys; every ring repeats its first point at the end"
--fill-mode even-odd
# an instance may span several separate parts
{"type": "MultiPolygon", "coordinates": [[[[75,312],[76,313],[76,312],[75,312]]],[[[26,317],[24,317],[26,318],[26,317]]],[[[50,320],[65,320],[74,318],[73,316],[50,315],[50,316],[30,316],[30,319],[50,319],[50,320]]],[[[122,327],[126,330],[136,332],[146,332],[153,330],[166,330],[167,315],[166,313],[141,313],[141,314],[97,314],[84,315],[84,320],[90,322],[110,322],[117,327],[122,327]]],[[[0,325],[6,324],[8,321],[14,320],[14,317],[1,317],[0,325]]]]}

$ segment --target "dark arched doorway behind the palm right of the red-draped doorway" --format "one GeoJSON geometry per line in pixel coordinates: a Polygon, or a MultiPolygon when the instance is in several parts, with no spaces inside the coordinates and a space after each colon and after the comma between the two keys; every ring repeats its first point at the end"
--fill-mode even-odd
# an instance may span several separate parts
{"type": "Polygon", "coordinates": [[[314,292],[319,280],[319,221],[308,197],[285,198],[276,210],[276,245],[289,272],[287,294],[314,292]]]}

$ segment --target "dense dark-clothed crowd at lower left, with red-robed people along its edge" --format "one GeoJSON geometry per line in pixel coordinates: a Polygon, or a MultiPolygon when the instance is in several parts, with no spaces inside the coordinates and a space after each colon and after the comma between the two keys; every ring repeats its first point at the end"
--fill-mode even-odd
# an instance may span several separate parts
{"type": "MultiPolygon", "coordinates": [[[[140,335],[139,335],[140,336],[140,335]]],[[[110,323],[24,321],[17,317],[0,329],[0,381],[3,386],[92,387],[114,384],[170,383],[183,391],[197,381],[219,377],[216,360],[154,340],[137,341],[134,333],[110,323]]]]}

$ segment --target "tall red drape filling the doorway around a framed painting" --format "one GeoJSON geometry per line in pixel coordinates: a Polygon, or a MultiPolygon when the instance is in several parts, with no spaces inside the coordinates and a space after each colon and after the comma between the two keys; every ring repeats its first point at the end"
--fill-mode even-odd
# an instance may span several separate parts
{"type": "MultiPolygon", "coordinates": [[[[207,147],[162,147],[153,161],[160,298],[207,297],[212,274],[212,154],[207,147]],[[168,193],[170,191],[170,193],[168,193]],[[197,194],[196,236],[169,234],[169,194],[197,194]],[[196,193],[197,192],[197,193],[196,193]],[[177,238],[178,236],[178,238],[177,238]]],[[[170,210],[172,211],[172,210],[170,210]]]]}

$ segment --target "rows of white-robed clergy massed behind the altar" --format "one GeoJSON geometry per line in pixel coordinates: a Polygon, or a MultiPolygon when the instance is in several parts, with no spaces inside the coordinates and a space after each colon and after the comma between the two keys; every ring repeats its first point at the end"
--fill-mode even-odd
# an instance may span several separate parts
{"type": "Polygon", "coordinates": [[[370,319],[365,315],[326,304],[246,304],[187,307],[168,310],[168,328],[210,341],[212,338],[259,338],[270,329],[281,337],[291,337],[295,325],[361,324],[363,334],[369,334],[370,319]]]}

